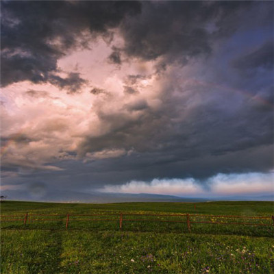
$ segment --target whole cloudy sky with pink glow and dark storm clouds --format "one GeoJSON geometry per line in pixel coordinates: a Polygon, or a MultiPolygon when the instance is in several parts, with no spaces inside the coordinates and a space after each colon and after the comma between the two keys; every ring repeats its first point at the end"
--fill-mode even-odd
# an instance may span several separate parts
{"type": "Polygon", "coordinates": [[[274,195],[273,1],[1,1],[1,195],[274,195]]]}

